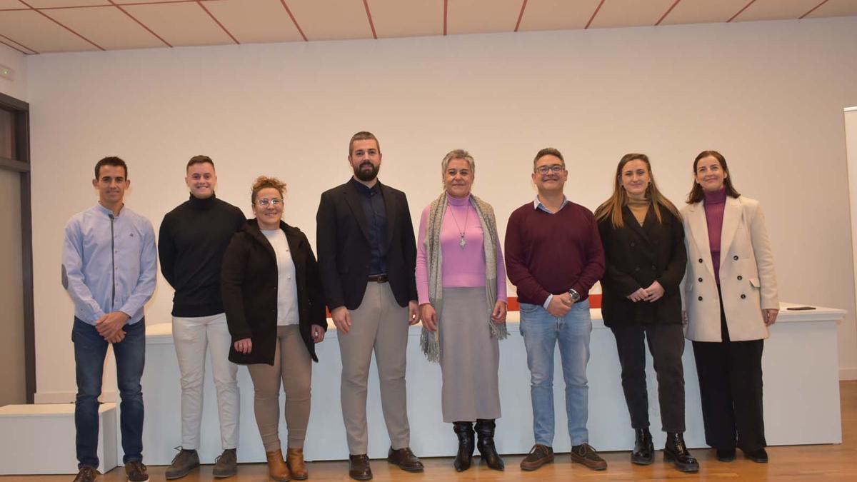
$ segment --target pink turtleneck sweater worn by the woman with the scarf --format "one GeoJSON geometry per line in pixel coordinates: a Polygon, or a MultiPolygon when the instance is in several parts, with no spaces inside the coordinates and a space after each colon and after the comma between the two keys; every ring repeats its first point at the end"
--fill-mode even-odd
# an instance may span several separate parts
{"type": "MultiPolygon", "coordinates": [[[[476,208],[470,205],[469,197],[446,196],[446,213],[443,226],[440,226],[440,256],[443,266],[440,268],[443,286],[475,287],[485,286],[485,253],[482,251],[482,226],[476,208]],[[464,231],[464,249],[459,244],[460,232],[464,231]]],[[[419,303],[428,303],[428,259],[423,240],[428,228],[428,208],[423,209],[420,218],[420,232],[417,236],[417,296],[419,303]]],[[[497,299],[506,301],[506,268],[503,266],[503,251],[500,239],[497,239],[497,299]]]]}

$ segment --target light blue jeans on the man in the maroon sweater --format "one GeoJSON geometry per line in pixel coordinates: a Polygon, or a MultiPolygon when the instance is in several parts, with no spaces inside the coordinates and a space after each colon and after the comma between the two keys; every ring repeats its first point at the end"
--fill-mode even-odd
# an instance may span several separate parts
{"type": "Polygon", "coordinates": [[[521,304],[521,335],[530,368],[530,398],[536,443],[554,445],[554,346],[560,345],[562,375],[566,382],[568,435],[572,446],[589,442],[589,386],[586,364],[592,332],[589,299],[556,317],[538,304],[521,304]]]}

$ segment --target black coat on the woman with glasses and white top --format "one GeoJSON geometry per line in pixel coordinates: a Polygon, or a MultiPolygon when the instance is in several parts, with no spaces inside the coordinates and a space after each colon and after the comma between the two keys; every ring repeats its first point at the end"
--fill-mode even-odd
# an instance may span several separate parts
{"type": "MultiPolygon", "coordinates": [[[[289,243],[295,263],[297,311],[303,343],[310,356],[315,356],[315,343],[310,325],[327,330],[324,298],[312,247],[306,235],[285,222],[279,222],[289,243]]],[[[232,336],[229,359],[232,363],[273,365],[277,340],[277,255],[257,220],[249,220],[243,230],[232,236],[223,256],[220,290],[226,311],[226,324],[232,336]],[[235,342],[249,338],[253,350],[247,354],[235,350],[235,342]]]]}

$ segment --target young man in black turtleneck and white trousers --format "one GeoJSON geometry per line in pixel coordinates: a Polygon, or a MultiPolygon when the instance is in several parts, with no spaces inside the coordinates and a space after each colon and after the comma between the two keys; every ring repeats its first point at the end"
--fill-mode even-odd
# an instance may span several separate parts
{"type": "Polygon", "coordinates": [[[166,470],[178,479],[200,467],[202,383],[206,347],[211,350],[217,389],[220,442],[223,454],[214,477],[237,473],[239,400],[237,366],[229,359],[231,336],[220,298],[220,264],[232,235],[246,218],[241,209],[214,196],[217,175],[208,156],[190,158],[187,177],[190,199],[164,216],[158,237],[161,273],[173,289],[172,337],[182,374],[182,449],[166,470]]]}

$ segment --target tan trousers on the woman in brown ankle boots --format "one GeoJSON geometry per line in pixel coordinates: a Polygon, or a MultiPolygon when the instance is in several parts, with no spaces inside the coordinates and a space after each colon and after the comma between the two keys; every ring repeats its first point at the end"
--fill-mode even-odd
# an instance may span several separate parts
{"type": "Polygon", "coordinates": [[[247,365],[253,379],[256,425],[266,452],[280,449],[279,383],[285,389],[285,426],[289,448],[303,448],[309,423],[309,395],[313,360],[303,344],[297,325],[277,327],[277,350],[273,366],[247,365]]]}

